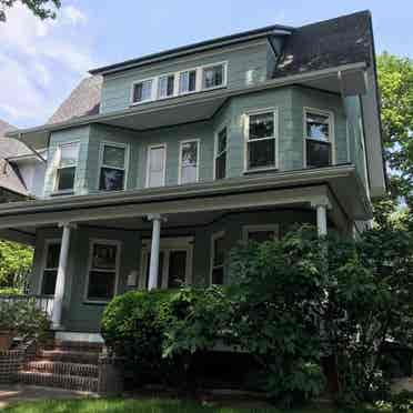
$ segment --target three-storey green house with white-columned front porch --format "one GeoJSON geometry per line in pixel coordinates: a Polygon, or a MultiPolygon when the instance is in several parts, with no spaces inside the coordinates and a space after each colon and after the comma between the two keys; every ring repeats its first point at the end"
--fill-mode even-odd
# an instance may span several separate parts
{"type": "Polygon", "coordinates": [[[8,133],[48,149],[43,199],[0,205],[0,235],[36,246],[30,291],[60,338],[99,332],[128,289],[224,283],[240,240],[361,231],[385,192],[369,12],[90,73],[51,122],[8,133]]]}

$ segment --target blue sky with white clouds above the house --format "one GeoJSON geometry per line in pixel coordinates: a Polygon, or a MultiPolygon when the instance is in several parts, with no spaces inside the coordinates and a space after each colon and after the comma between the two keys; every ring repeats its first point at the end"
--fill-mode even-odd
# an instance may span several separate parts
{"type": "Polygon", "coordinates": [[[412,0],[62,0],[56,21],[22,6],[0,23],[0,119],[43,123],[88,69],[268,24],[370,9],[376,50],[413,58],[412,0]]]}

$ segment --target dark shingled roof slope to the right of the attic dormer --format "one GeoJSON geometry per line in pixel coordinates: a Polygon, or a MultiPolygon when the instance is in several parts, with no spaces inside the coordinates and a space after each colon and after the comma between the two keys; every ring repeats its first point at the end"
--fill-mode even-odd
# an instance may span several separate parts
{"type": "Polygon", "coordinates": [[[371,63],[370,11],[296,28],[285,39],[274,78],[357,62],[371,63]]]}

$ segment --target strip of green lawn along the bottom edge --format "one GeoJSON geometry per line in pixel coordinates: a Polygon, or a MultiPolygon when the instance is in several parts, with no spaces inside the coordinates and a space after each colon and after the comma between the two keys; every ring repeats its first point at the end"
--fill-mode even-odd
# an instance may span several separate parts
{"type": "MultiPolygon", "coordinates": [[[[281,413],[278,409],[235,409],[201,405],[179,400],[56,400],[18,403],[6,407],[7,413],[281,413]]],[[[330,409],[290,410],[289,413],[339,413],[330,409]]],[[[362,410],[357,413],[375,413],[362,410]]]]}

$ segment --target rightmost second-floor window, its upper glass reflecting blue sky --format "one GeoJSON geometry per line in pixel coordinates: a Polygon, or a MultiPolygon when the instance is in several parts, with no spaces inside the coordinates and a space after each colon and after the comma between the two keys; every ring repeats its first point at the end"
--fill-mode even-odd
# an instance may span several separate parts
{"type": "Polygon", "coordinates": [[[304,110],[305,164],[308,168],[328,167],[332,162],[332,117],[329,112],[304,110]]]}

